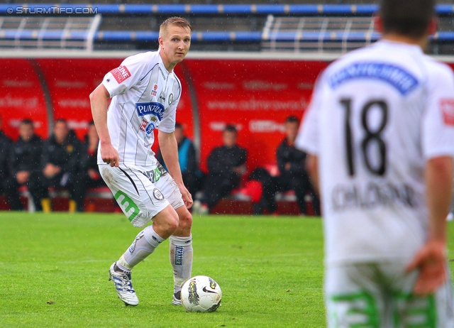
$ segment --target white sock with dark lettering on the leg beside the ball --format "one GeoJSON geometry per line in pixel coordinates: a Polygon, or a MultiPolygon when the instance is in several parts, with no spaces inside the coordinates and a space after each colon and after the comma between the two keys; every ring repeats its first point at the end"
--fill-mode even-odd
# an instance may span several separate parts
{"type": "Polygon", "coordinates": [[[174,293],[182,290],[182,285],[191,278],[192,273],[192,236],[170,236],[170,263],[173,268],[174,293]]]}

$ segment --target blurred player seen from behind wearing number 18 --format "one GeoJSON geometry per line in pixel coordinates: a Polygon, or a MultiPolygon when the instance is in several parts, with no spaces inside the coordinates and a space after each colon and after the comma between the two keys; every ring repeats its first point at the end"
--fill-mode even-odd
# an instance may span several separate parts
{"type": "Polygon", "coordinates": [[[297,147],[319,185],[328,327],[454,327],[454,77],[433,0],[382,0],[381,40],[319,76],[297,147]]]}

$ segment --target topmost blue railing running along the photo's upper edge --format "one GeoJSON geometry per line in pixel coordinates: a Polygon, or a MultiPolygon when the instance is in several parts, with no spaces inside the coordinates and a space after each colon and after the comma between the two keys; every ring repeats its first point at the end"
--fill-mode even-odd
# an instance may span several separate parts
{"type": "MultiPolygon", "coordinates": [[[[162,13],[201,15],[218,14],[292,14],[292,15],[372,15],[377,11],[374,4],[0,4],[0,15],[13,13],[53,13],[53,8],[65,8],[65,13],[87,9],[87,13],[162,13]],[[28,8],[25,12],[23,8],[28,8]],[[90,10],[89,10],[90,9],[90,10]],[[94,9],[94,10],[92,10],[94,9]],[[48,10],[48,12],[45,12],[48,10]],[[96,12],[94,12],[96,11],[96,12]]],[[[452,4],[436,6],[438,15],[454,14],[452,4]]],[[[83,13],[83,11],[82,11],[83,13]]]]}

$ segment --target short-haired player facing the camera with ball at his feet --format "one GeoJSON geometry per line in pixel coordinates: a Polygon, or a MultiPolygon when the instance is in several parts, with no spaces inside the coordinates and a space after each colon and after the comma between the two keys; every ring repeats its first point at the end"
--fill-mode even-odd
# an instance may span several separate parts
{"type": "Polygon", "coordinates": [[[167,18],[160,26],[156,52],[126,58],[90,94],[104,181],[133,226],[143,227],[153,219],[109,270],[117,295],[126,305],[139,302],[131,270],[167,238],[175,283],[173,304],[181,305],[181,287],[191,277],[192,216],[188,209],[192,196],[184,187],[178,164],[174,130],[182,85],[173,72],[187,55],[191,33],[184,18],[167,18]],[[168,173],[151,150],[154,129],[158,129],[168,173]]]}

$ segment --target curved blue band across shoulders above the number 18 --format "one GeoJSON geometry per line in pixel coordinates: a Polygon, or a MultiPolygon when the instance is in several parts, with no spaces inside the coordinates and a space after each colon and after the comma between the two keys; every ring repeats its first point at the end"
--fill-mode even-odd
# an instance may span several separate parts
{"type": "Polygon", "coordinates": [[[402,67],[384,62],[357,62],[334,73],[329,82],[332,88],[336,88],[343,82],[362,78],[387,82],[401,94],[411,92],[418,85],[418,80],[402,67]]]}

